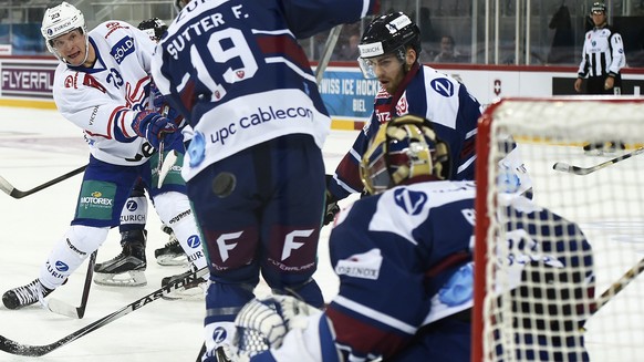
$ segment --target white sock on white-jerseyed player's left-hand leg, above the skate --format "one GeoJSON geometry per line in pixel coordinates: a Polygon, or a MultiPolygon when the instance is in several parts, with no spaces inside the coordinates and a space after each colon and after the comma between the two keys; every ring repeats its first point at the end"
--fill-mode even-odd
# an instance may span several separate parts
{"type": "Polygon", "coordinates": [[[40,281],[49,289],[60,287],[105,241],[107,227],[71,226],[40,268],[40,281]]]}

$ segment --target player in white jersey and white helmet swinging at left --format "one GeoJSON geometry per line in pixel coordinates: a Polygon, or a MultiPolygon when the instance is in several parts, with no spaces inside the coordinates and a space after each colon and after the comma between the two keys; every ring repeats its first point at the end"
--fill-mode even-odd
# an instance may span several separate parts
{"type": "Polygon", "coordinates": [[[90,159],[83,176],[74,218],[27,286],[7,291],[9,309],[42,300],[118,226],[121,211],[135,180],[148,187],[162,221],[175,231],[196,268],[206,260],[186,185],[172,169],[158,183],[159,145],[183,158],[178,126],[150,110],[150,58],[155,42],[122,21],[107,21],[87,32],[83,13],[63,2],[45,11],[42,35],[61,61],[53,96],[61,114],[84,132],[90,159]]]}

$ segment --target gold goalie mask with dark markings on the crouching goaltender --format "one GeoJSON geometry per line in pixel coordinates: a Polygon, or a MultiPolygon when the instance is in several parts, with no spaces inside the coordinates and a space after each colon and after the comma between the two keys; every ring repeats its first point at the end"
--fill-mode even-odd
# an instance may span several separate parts
{"type": "Polygon", "coordinates": [[[397,185],[446,179],[450,169],[449,148],[432,122],[411,114],[383,124],[360,163],[362,183],[372,195],[397,185]]]}

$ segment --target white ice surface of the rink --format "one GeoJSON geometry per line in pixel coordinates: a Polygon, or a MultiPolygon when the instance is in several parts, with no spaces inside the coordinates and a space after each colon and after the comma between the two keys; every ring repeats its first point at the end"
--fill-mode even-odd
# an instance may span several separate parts
{"type": "MultiPolygon", "coordinates": [[[[324,145],[328,169],[333,169],[340,162],[355,135],[355,131],[332,132],[324,145]]],[[[611,206],[602,214],[579,220],[589,238],[600,240],[596,245],[593,244],[596,262],[609,263],[617,258],[623,260],[621,267],[598,276],[599,294],[644,256],[642,207],[635,213],[635,218],[632,213],[631,217],[622,217],[625,207],[619,204],[621,199],[626,203],[636,193],[614,189],[609,179],[604,180],[603,177],[617,173],[620,177],[633,179],[631,187],[640,186],[635,180],[638,180],[641,170],[644,169],[644,155],[606,167],[593,175],[574,176],[553,170],[552,163],[563,161],[589,166],[609,158],[589,157],[580,149],[571,152],[569,148],[571,147],[528,144],[528,152],[546,155],[543,158],[548,159],[540,164],[529,164],[528,168],[533,173],[536,199],[552,204],[563,213],[567,201],[549,199],[550,195],[539,195],[540,186],[549,183],[569,185],[565,190],[569,192],[570,199],[581,197],[575,196],[575,189],[588,190],[589,187],[592,194],[617,195],[616,201],[611,201],[611,206]],[[595,183],[592,186],[586,184],[593,180],[595,183]],[[596,186],[601,184],[604,186],[596,186]]],[[[65,121],[58,111],[0,107],[0,175],[15,188],[30,189],[84,165],[86,161],[87,147],[81,131],[65,121]]],[[[0,194],[0,292],[25,285],[38,277],[40,266],[73,217],[81,178],[74,176],[21,199],[0,194]]],[[[115,288],[93,285],[85,317],[81,320],[54,314],[38,306],[21,310],[7,310],[0,306],[0,335],[31,345],[53,343],[156,290],[163,277],[184,271],[181,267],[160,267],[154,261],[154,249],[165,245],[167,236],[160,230],[159,219],[152,205],[147,230],[146,287],[115,288]]],[[[337,281],[328,257],[329,231],[329,227],[322,230],[319,270],[315,275],[326,300],[337,291],[337,281]]],[[[118,240],[117,230],[111,230],[107,240],[98,250],[97,260],[116,256],[121,250],[118,240]]],[[[77,306],[85,272],[86,263],[51,297],[77,306]]],[[[642,361],[644,320],[642,316],[622,313],[643,309],[640,307],[644,300],[642,288],[642,280],[635,279],[592,317],[588,324],[586,339],[592,361],[642,361]],[[601,334],[600,331],[607,333],[601,334]],[[633,349],[635,353],[613,359],[614,352],[623,349],[633,349]]],[[[258,293],[266,293],[266,290],[260,287],[258,293]]],[[[404,308],[404,298],[401,298],[401,304],[404,308]]],[[[202,341],[204,312],[204,304],[199,301],[159,299],[42,358],[23,358],[0,352],[0,361],[195,361],[202,341]]]]}

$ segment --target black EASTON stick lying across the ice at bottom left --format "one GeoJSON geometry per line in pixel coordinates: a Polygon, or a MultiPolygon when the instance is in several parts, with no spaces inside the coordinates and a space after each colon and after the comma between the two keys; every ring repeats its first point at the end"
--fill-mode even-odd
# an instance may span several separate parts
{"type": "Polygon", "coordinates": [[[15,341],[12,341],[3,335],[0,335],[0,351],[4,351],[7,353],[11,353],[11,354],[18,354],[18,355],[29,355],[29,356],[41,356],[41,355],[45,355],[49,352],[56,350],[70,342],[73,342],[77,339],[80,339],[81,337],[89,334],[97,329],[100,329],[101,327],[104,327],[108,323],[112,323],[113,321],[120,319],[123,316],[129,314],[133,311],[141,309],[147,304],[149,304],[150,302],[160,299],[163,296],[170,293],[175,290],[181,289],[184,288],[184,286],[188,285],[188,283],[193,283],[198,281],[198,278],[201,278],[204,276],[206,276],[208,273],[208,269],[204,268],[204,269],[199,269],[186,277],[184,277],[183,279],[177,279],[170,283],[168,283],[167,286],[157,289],[155,291],[153,291],[152,293],[139,298],[135,301],[133,301],[132,303],[121,308],[120,310],[105,316],[103,318],[101,318],[100,320],[87,324],[83,328],[81,328],[80,330],[73,332],[72,334],[69,334],[53,343],[50,344],[45,344],[45,345],[29,345],[29,344],[22,344],[22,343],[18,343],[15,341]]]}

